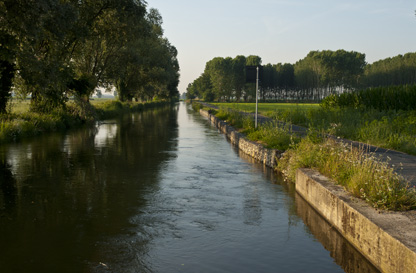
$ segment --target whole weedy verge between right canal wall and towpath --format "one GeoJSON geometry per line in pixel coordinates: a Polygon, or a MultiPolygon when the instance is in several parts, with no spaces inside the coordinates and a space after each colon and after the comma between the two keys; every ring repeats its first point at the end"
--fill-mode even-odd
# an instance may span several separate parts
{"type": "Polygon", "coordinates": [[[294,181],[296,169],[313,168],[375,208],[416,209],[415,188],[410,188],[387,162],[372,154],[322,137],[322,132],[313,129],[301,139],[293,135],[289,127],[279,127],[273,122],[255,129],[252,119],[235,109],[210,111],[246,134],[247,138],[269,148],[284,150],[277,170],[288,181],[294,181]]]}

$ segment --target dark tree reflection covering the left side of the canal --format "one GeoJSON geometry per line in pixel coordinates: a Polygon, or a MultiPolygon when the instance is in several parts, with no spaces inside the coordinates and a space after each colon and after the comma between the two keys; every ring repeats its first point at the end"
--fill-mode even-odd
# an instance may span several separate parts
{"type": "Polygon", "coordinates": [[[128,232],[177,134],[169,107],[0,146],[0,272],[103,272],[100,242],[128,232]]]}

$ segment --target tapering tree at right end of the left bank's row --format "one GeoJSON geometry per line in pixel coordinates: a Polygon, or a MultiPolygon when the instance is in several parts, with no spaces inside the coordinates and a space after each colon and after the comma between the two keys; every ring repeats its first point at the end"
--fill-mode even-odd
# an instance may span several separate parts
{"type": "Polygon", "coordinates": [[[129,35],[130,46],[122,49],[111,72],[110,79],[123,101],[179,95],[177,50],[163,37],[162,17],[156,9],[150,9],[145,19],[142,31],[136,29],[129,35]]]}

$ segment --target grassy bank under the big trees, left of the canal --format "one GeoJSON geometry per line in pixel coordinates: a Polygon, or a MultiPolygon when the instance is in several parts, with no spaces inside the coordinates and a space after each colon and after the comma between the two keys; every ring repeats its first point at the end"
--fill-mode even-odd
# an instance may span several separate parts
{"type": "Polygon", "coordinates": [[[85,126],[93,124],[97,120],[109,119],[123,113],[142,111],[166,104],[166,102],[122,103],[117,100],[97,100],[80,107],[69,102],[66,109],[40,114],[30,112],[28,101],[22,101],[12,105],[13,108],[9,114],[0,115],[0,143],[85,126]]]}

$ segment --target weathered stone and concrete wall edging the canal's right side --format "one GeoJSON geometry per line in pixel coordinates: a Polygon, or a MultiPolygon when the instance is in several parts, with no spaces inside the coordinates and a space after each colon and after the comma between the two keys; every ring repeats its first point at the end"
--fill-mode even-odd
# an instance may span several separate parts
{"type": "MultiPolygon", "coordinates": [[[[274,167],[281,151],[249,141],[205,110],[208,118],[242,152],[274,167]]],[[[381,272],[416,271],[416,214],[378,211],[310,169],[299,169],[296,191],[381,272]]]]}

